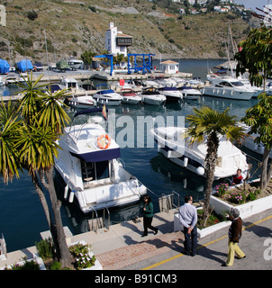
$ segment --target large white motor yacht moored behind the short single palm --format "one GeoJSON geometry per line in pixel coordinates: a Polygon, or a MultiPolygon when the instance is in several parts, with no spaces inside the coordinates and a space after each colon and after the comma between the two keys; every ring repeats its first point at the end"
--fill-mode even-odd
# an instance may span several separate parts
{"type": "MultiPolygon", "coordinates": [[[[186,167],[197,175],[205,176],[204,159],[207,153],[205,141],[189,145],[186,128],[159,127],[150,131],[158,143],[159,152],[165,157],[178,166],[186,167]]],[[[231,141],[220,137],[217,154],[214,180],[234,175],[238,168],[246,174],[248,169],[246,157],[239,148],[232,145],[231,141]]]]}

